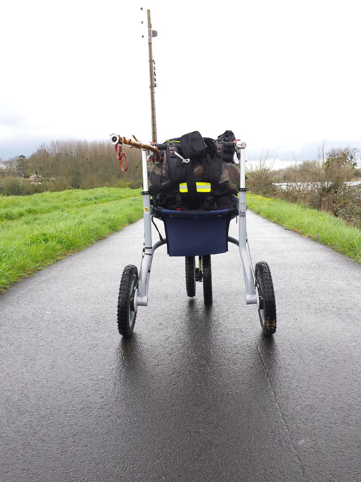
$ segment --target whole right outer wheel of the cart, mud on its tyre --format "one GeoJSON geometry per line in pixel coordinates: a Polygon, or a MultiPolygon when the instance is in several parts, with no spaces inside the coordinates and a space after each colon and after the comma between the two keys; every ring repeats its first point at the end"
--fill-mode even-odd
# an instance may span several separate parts
{"type": "Polygon", "coordinates": [[[263,335],[270,336],[276,331],[276,299],[269,266],[264,261],[256,264],[256,297],[263,335]]]}

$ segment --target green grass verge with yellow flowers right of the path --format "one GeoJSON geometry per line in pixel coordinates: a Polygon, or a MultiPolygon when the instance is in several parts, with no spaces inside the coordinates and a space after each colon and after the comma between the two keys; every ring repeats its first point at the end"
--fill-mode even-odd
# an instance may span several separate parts
{"type": "Polygon", "coordinates": [[[247,193],[247,207],[285,228],[312,238],[361,263],[361,231],[324,211],[247,193]]]}

